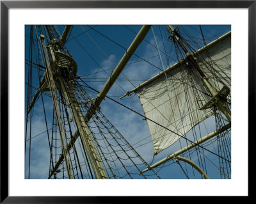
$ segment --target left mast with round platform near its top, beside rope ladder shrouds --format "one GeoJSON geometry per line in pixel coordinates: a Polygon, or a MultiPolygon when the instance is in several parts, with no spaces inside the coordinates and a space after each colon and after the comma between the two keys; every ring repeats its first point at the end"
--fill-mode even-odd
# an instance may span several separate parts
{"type": "MultiPolygon", "coordinates": [[[[76,97],[74,95],[73,79],[77,71],[76,62],[67,54],[60,52],[60,48],[63,46],[63,42],[65,42],[65,39],[67,38],[67,33],[70,30],[70,27],[66,27],[65,31],[63,32],[63,35],[60,38],[60,41],[54,38],[54,35],[52,34],[52,31],[51,31],[51,26],[46,26],[46,27],[47,27],[47,32],[49,33],[49,36],[51,39],[51,43],[47,47],[49,49],[49,53],[52,59],[51,66],[50,65],[48,66],[49,69],[47,69],[46,75],[48,76],[49,70],[51,70],[52,74],[54,74],[54,78],[52,77],[52,79],[54,79],[54,83],[59,88],[61,94],[64,96],[65,100],[67,101],[67,104],[70,108],[72,116],[76,122],[79,136],[81,137],[81,141],[86,150],[88,158],[91,162],[92,169],[95,173],[95,178],[108,178],[106,171],[104,169],[104,166],[100,160],[99,153],[97,152],[97,149],[93,143],[92,136],[90,135],[86,122],[84,121],[82,111],[78,105],[79,103],[77,102],[76,97]]],[[[47,58],[47,56],[44,56],[44,58],[47,58]]],[[[59,123],[58,123],[58,126],[59,126],[59,123]]],[[[63,146],[63,156],[65,161],[67,162],[68,161],[67,154],[69,152],[68,144],[66,145],[62,144],[62,146],[63,146]]],[[[70,178],[69,172],[68,172],[68,178],[70,178]]]]}

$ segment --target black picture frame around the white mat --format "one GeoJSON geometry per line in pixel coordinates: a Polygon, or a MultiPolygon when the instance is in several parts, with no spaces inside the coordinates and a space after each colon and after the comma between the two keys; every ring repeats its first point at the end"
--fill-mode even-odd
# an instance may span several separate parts
{"type": "MultiPolygon", "coordinates": [[[[10,8],[248,8],[248,130],[255,120],[256,1],[1,1],[1,203],[116,203],[123,198],[8,195],[8,10],[10,8]]],[[[248,136],[249,136],[248,135],[248,136]]],[[[249,153],[248,153],[249,155],[249,153]]],[[[249,182],[250,180],[248,180],[249,182]]],[[[248,192],[249,195],[249,192],[248,192]]],[[[249,196],[248,196],[249,197],[249,196]]],[[[131,199],[132,197],[128,198],[131,199]]],[[[216,198],[216,197],[215,197],[216,198]]],[[[157,198],[158,199],[158,198],[157,198]]],[[[147,198],[137,201],[145,202],[147,198]]],[[[128,201],[125,198],[125,201],[128,201]]],[[[192,200],[193,201],[193,200],[192,200]]]]}

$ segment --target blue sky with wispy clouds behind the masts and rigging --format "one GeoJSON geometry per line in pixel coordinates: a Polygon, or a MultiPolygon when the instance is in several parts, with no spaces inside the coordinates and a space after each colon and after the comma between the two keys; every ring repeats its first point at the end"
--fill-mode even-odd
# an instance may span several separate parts
{"type": "MultiPolygon", "coordinates": [[[[65,26],[57,26],[60,33],[62,33],[65,26]]],[[[163,32],[163,26],[152,26],[154,33],[156,35],[156,41],[159,49],[162,51],[167,49],[163,47],[162,38],[166,40],[163,32]]],[[[173,25],[175,27],[175,25],[173,25]]],[[[108,75],[111,74],[115,65],[122,58],[125,49],[127,49],[136,36],[136,33],[140,30],[141,26],[100,26],[100,25],[90,25],[90,26],[74,26],[71,34],[66,43],[66,47],[72,57],[76,60],[78,71],[77,75],[86,81],[92,88],[100,91],[104,82],[108,79],[108,75]],[[85,32],[88,31],[88,32],[85,32]],[[100,35],[102,33],[104,36],[100,35]],[[106,39],[106,36],[115,41],[106,39]],[[92,40],[93,39],[93,40],[92,40]],[[119,45],[117,45],[119,44],[119,45]],[[122,47],[120,47],[120,45],[122,47]],[[99,49],[100,47],[100,49],[99,49]],[[125,49],[124,49],[124,48],[125,49]],[[88,55],[90,53],[90,56],[88,55]],[[108,56],[108,57],[106,57],[108,56]],[[105,70],[105,71],[103,71],[105,70]]],[[[227,33],[231,30],[231,26],[207,26],[203,25],[202,30],[205,35],[205,39],[210,39],[207,43],[218,38],[219,36],[227,33]]],[[[26,56],[25,59],[28,59],[29,51],[29,26],[26,26],[26,56]]],[[[195,35],[196,38],[202,38],[200,34],[200,28],[197,25],[193,26],[180,26],[180,32],[188,33],[195,35]],[[189,31],[188,31],[189,30],[189,31]]],[[[186,36],[184,36],[186,38],[186,36]]],[[[172,47],[171,43],[168,44],[169,47],[172,47]]],[[[166,46],[165,45],[165,46],[166,46]]],[[[201,43],[201,46],[203,44],[201,43]]],[[[159,60],[158,52],[156,50],[156,42],[154,40],[154,35],[152,29],[148,32],[148,35],[145,37],[145,40],[136,50],[135,54],[137,56],[132,56],[132,58],[127,63],[127,66],[124,68],[124,71],[118,77],[117,83],[111,88],[108,93],[108,96],[118,100],[125,106],[131,107],[132,109],[143,114],[143,110],[140,106],[140,100],[135,95],[132,95],[132,99],[123,98],[120,100],[120,96],[124,95],[126,91],[132,90],[134,86],[138,86],[144,81],[147,81],[150,77],[159,73],[163,68],[168,67],[168,63],[165,58],[163,60],[163,65],[159,60]],[[153,46],[154,45],[154,46],[153,46]],[[138,58],[140,56],[140,58],[138,58]],[[152,58],[154,56],[154,58],[152,58]],[[141,60],[147,59],[154,66],[145,63],[141,60]],[[125,79],[133,79],[132,83],[125,81],[125,79]],[[134,80],[137,79],[137,80],[134,80]],[[122,88],[120,88],[120,86],[122,88]]],[[[175,56],[173,56],[175,58],[175,56]]],[[[169,62],[170,65],[174,61],[169,62]]],[[[25,65],[26,69],[26,82],[28,81],[28,65],[25,65]]],[[[37,72],[34,72],[33,81],[35,87],[38,87],[38,80],[36,79],[37,72]]],[[[37,77],[38,78],[38,77],[37,77]]],[[[27,90],[27,86],[25,86],[27,90]]],[[[35,93],[35,90],[33,90],[35,93]]],[[[93,91],[86,89],[92,98],[95,97],[93,91]]],[[[25,94],[26,95],[26,94],[25,94]]],[[[26,100],[26,98],[25,98],[26,100]]],[[[45,112],[47,114],[47,123],[51,125],[51,115],[52,115],[52,104],[51,98],[44,97],[45,102],[45,112]]],[[[26,103],[25,103],[26,104],[26,103]]],[[[134,114],[128,109],[115,104],[115,102],[106,98],[100,105],[102,113],[104,113],[107,118],[115,125],[122,135],[131,143],[131,145],[136,144],[136,150],[140,153],[141,157],[145,159],[148,163],[152,162],[152,143],[150,142],[150,134],[148,131],[147,123],[145,120],[142,120],[141,116],[134,114]],[[142,142],[138,143],[138,141],[142,142]]],[[[207,124],[212,124],[212,119],[209,119],[207,124]]],[[[209,125],[210,126],[210,125],[209,125]]],[[[210,130],[213,127],[210,127],[210,130]]],[[[42,109],[42,101],[38,99],[33,109],[33,123],[31,137],[36,136],[46,130],[45,121],[44,121],[44,112],[42,109]]],[[[28,148],[27,143],[27,148],[28,148]]],[[[159,153],[154,159],[154,162],[162,159],[166,155],[175,152],[175,149],[179,146],[174,146],[172,149],[168,148],[163,152],[159,153]]],[[[47,178],[49,171],[49,145],[47,140],[47,135],[40,134],[31,139],[31,178],[47,178]]],[[[214,168],[212,168],[214,169],[214,168]]],[[[186,178],[184,173],[180,171],[180,167],[177,164],[170,165],[168,168],[159,169],[159,175],[163,178],[186,178]]],[[[220,175],[216,175],[213,172],[209,172],[209,177],[218,178],[220,175]]],[[[26,175],[25,178],[28,178],[28,151],[26,155],[26,175]]]]}

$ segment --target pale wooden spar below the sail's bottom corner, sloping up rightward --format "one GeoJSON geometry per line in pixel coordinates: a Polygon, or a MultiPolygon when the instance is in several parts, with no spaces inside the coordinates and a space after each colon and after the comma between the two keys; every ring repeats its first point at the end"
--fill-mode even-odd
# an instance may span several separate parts
{"type": "MultiPolygon", "coordinates": [[[[164,159],[162,159],[161,161],[159,162],[156,162],[156,164],[153,164],[152,166],[148,166],[147,169],[141,171],[141,173],[144,173],[152,168],[155,168],[157,166],[159,166],[160,164],[163,164],[164,162],[166,161],[169,161],[170,159],[173,159],[174,157],[177,157],[177,155],[180,155],[181,153],[184,153],[188,150],[190,150],[191,148],[195,147],[196,145],[200,145],[201,143],[204,143],[204,141],[207,141],[208,139],[211,139],[212,137],[220,134],[221,132],[227,130],[227,129],[230,129],[231,127],[231,124],[228,123],[227,125],[224,125],[223,127],[221,127],[220,129],[218,130],[215,130],[214,132],[211,132],[210,134],[207,134],[207,136],[204,136],[202,137],[201,139],[198,139],[198,141],[195,141],[195,143],[191,143],[190,145],[182,148],[181,150],[175,152],[175,153],[172,153],[171,155],[165,157],[164,159]]],[[[141,174],[139,173],[139,174],[141,174]]]]}

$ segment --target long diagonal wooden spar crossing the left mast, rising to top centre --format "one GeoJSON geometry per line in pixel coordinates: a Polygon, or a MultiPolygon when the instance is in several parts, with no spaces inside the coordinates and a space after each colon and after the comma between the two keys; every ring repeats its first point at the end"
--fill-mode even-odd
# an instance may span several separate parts
{"type": "MultiPolygon", "coordinates": [[[[113,86],[113,84],[115,83],[116,79],[121,74],[122,70],[124,69],[125,65],[129,61],[129,59],[131,58],[131,56],[134,53],[134,51],[136,51],[136,49],[138,48],[138,46],[140,45],[142,40],[147,35],[150,27],[151,26],[148,26],[148,25],[144,25],[144,26],[141,27],[138,35],[134,38],[134,40],[132,41],[131,45],[129,46],[129,48],[125,52],[124,56],[122,57],[122,59],[120,59],[118,65],[116,65],[115,70],[109,76],[108,81],[103,86],[103,88],[100,91],[100,93],[97,95],[97,98],[95,98],[95,102],[94,102],[93,106],[90,107],[90,109],[88,110],[86,116],[84,116],[84,121],[86,121],[86,122],[89,121],[90,118],[92,117],[92,114],[95,113],[97,107],[99,107],[99,105],[102,102],[102,100],[104,99],[104,97],[106,97],[106,95],[107,95],[108,91],[110,90],[111,86],[113,86]]],[[[70,148],[72,147],[72,144],[75,143],[75,141],[76,141],[78,136],[79,136],[79,132],[78,132],[78,130],[76,130],[76,132],[74,133],[74,136],[72,137],[72,139],[70,139],[70,141],[69,141],[69,143],[67,145],[67,152],[69,152],[70,148]]],[[[52,169],[51,174],[49,175],[49,178],[51,178],[51,176],[56,171],[56,169],[58,169],[58,166],[60,166],[62,160],[63,160],[63,155],[61,154],[60,158],[58,159],[58,162],[56,162],[56,165],[52,169]]]]}

